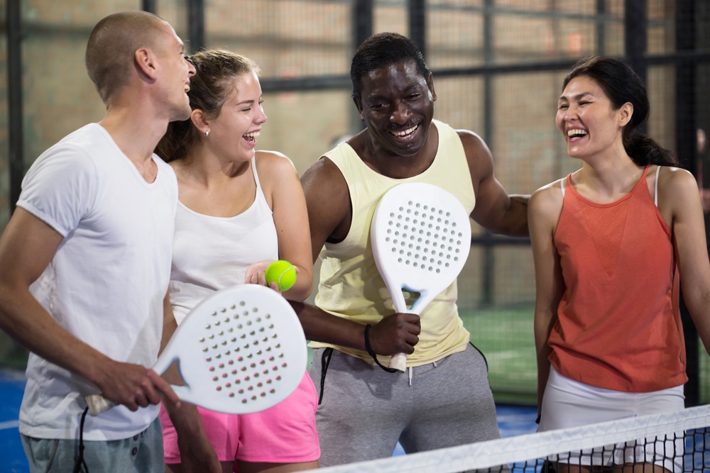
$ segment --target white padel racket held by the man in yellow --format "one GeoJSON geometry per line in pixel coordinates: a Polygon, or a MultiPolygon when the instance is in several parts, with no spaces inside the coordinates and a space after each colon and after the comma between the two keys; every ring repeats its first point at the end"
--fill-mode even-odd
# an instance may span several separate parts
{"type": "MultiPolygon", "coordinates": [[[[370,239],[395,311],[418,315],[463,269],[471,248],[469,214],[441,187],[399,184],[377,205],[370,239]],[[402,289],[420,294],[411,308],[402,289]]],[[[394,355],[389,367],[405,371],[407,355],[394,355]]]]}

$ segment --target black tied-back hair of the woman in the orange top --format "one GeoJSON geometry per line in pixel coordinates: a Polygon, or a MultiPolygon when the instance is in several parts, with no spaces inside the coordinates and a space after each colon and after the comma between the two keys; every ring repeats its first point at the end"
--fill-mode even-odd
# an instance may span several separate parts
{"type": "Polygon", "coordinates": [[[633,114],[622,131],[623,147],[626,154],[638,166],[676,166],[678,158],[670,150],[663,148],[637,128],[648,120],[650,105],[646,87],[633,69],[623,62],[610,57],[587,57],[572,66],[562,81],[562,90],[575,77],[589,77],[601,87],[611,101],[614,110],[629,102],[633,114]]]}

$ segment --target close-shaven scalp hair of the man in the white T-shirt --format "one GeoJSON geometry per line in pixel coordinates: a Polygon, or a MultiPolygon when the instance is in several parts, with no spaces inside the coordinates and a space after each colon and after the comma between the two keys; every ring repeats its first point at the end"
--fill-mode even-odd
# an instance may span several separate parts
{"type": "Polygon", "coordinates": [[[128,84],[136,50],[160,50],[168,23],[146,11],[124,11],[94,26],[87,44],[86,65],[104,104],[128,84]]]}

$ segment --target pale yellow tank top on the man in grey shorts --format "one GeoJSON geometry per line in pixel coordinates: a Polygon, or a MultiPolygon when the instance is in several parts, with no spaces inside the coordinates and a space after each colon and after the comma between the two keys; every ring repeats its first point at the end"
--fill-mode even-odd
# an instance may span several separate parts
{"type": "MultiPolygon", "coordinates": [[[[476,196],[461,139],[447,124],[436,120],[433,124],[439,131],[439,148],[434,162],[422,174],[408,179],[392,179],[378,174],[367,167],[347,143],[326,153],[325,156],[345,177],[353,216],[346,238],[340,243],[326,243],[320,254],[322,266],[315,304],[324,311],[363,324],[378,323],[384,316],[394,313],[392,299],[377,270],[370,245],[372,215],[386,191],[404,182],[427,182],[457,196],[466,213],[473,211],[476,196]]],[[[414,300],[408,297],[407,305],[414,300]]],[[[407,357],[408,367],[426,365],[465,349],[469,333],[459,318],[456,300],[454,281],[422,311],[422,333],[414,353],[407,357]]],[[[361,350],[315,342],[310,346],[334,347],[374,364],[367,352],[361,350]]],[[[378,360],[387,365],[389,357],[378,357],[378,360]]]]}

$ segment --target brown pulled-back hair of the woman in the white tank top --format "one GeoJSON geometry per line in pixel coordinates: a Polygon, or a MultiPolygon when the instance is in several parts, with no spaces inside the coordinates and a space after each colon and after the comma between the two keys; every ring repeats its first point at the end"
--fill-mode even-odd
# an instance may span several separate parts
{"type": "MultiPolygon", "coordinates": [[[[226,50],[200,51],[187,57],[195,66],[195,76],[190,79],[190,98],[192,110],[202,110],[209,118],[219,116],[222,105],[234,91],[234,80],[249,72],[259,73],[256,62],[234,52],[226,50]]],[[[202,138],[200,130],[192,120],[173,121],[168,124],[168,131],[160,139],[155,154],[165,162],[185,157],[192,147],[202,138]]]]}

